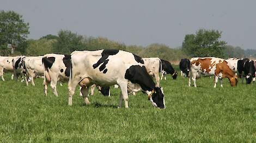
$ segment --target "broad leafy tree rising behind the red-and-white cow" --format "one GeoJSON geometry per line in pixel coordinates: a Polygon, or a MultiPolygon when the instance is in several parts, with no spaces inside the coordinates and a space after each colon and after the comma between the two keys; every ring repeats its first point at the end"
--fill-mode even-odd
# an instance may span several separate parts
{"type": "Polygon", "coordinates": [[[199,29],[194,34],[185,36],[182,42],[182,50],[191,57],[224,57],[224,47],[226,42],[220,41],[221,31],[199,29]]]}

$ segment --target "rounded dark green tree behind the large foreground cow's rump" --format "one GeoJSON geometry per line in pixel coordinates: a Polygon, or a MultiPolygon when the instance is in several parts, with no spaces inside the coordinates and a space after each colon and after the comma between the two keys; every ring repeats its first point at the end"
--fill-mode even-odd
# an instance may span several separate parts
{"type": "Polygon", "coordinates": [[[57,42],[53,44],[54,53],[70,54],[75,50],[85,50],[83,36],[69,30],[60,30],[58,32],[57,42]]]}

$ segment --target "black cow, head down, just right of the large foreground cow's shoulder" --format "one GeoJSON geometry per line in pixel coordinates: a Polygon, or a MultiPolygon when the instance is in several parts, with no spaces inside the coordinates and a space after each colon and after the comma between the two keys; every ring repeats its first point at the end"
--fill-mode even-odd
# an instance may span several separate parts
{"type": "Polygon", "coordinates": [[[163,76],[164,76],[164,80],[166,80],[166,76],[165,76],[166,74],[171,74],[173,76],[173,79],[176,80],[178,73],[174,70],[174,68],[172,67],[172,64],[162,59],[161,59],[161,63],[162,63],[162,70],[161,68],[159,68],[159,72],[162,73],[161,80],[163,79],[163,76]]]}

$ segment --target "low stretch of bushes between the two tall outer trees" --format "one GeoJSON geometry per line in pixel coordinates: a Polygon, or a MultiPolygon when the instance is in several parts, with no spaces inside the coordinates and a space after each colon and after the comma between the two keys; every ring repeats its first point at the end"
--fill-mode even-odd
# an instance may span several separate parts
{"type": "Polygon", "coordinates": [[[47,53],[70,54],[75,50],[118,49],[130,51],[141,57],[160,57],[169,61],[187,57],[181,49],[172,49],[164,44],[154,43],[147,47],[126,46],[124,43],[105,37],[78,35],[69,30],[60,30],[58,35],[46,35],[39,40],[27,40],[15,50],[15,55],[38,56],[47,53]]]}

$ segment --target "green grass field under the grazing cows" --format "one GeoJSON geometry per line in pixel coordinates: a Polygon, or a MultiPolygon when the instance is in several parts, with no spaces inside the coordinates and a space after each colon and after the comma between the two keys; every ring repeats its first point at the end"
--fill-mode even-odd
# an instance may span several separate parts
{"type": "Polygon", "coordinates": [[[166,109],[154,108],[141,92],[129,96],[129,109],[117,108],[120,89],[111,97],[96,92],[90,105],[74,95],[68,106],[67,83],[49,88],[0,81],[0,140],[2,142],[256,142],[256,85],[213,88],[214,79],[202,77],[198,88],[178,76],[161,81],[166,109]]]}

